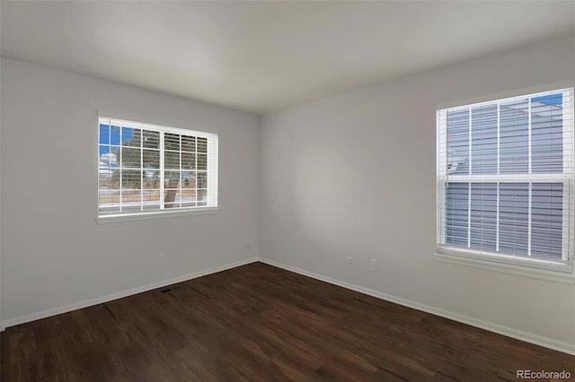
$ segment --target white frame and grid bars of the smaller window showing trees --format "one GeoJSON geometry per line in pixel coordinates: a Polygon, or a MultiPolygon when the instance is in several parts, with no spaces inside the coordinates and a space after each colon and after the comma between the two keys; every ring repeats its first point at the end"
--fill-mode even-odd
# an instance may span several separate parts
{"type": "MultiPolygon", "coordinates": [[[[96,221],[101,223],[101,222],[110,222],[110,221],[136,221],[136,220],[143,220],[143,219],[152,219],[152,218],[166,218],[166,217],[171,217],[171,216],[185,216],[185,215],[193,215],[193,214],[206,214],[206,213],[217,213],[219,211],[219,201],[218,201],[218,157],[219,157],[219,149],[218,149],[218,144],[219,144],[219,135],[217,133],[213,133],[213,132],[208,132],[208,131],[199,131],[199,130],[191,130],[191,129],[187,129],[187,128],[179,128],[179,127],[173,127],[173,126],[164,126],[164,125],[157,125],[157,124],[152,124],[152,123],[146,123],[146,122],[139,122],[137,120],[134,119],[128,119],[128,118],[121,118],[121,117],[110,117],[111,114],[106,113],[106,114],[101,114],[101,113],[97,113],[97,117],[96,117],[96,126],[97,126],[97,143],[96,143],[96,154],[97,154],[97,160],[96,160],[96,177],[97,177],[97,187],[96,187],[96,208],[95,208],[95,214],[96,214],[96,221]],[[154,132],[158,132],[159,133],[159,143],[158,143],[158,149],[157,151],[159,152],[159,173],[160,175],[160,179],[159,179],[159,192],[160,192],[160,203],[159,203],[159,209],[158,210],[142,210],[140,209],[139,211],[128,211],[128,212],[122,212],[121,208],[119,212],[114,212],[114,213],[102,213],[101,210],[101,205],[100,205],[100,196],[101,196],[101,191],[100,191],[100,183],[101,183],[101,177],[100,177],[100,161],[101,161],[101,133],[100,133],[100,126],[101,124],[107,124],[109,126],[115,125],[115,126],[119,126],[119,131],[120,131],[120,142],[118,144],[119,149],[121,149],[122,147],[129,147],[129,146],[124,146],[121,142],[121,132],[123,131],[124,127],[129,127],[129,128],[134,128],[134,129],[140,129],[140,131],[142,132],[141,136],[143,137],[144,134],[144,130],[147,131],[154,131],[154,132]],[[185,135],[185,136],[190,136],[190,137],[194,137],[196,138],[206,138],[207,140],[207,152],[206,152],[206,157],[207,157],[207,164],[206,164],[206,174],[208,174],[208,182],[207,182],[207,186],[206,186],[206,205],[195,205],[195,206],[178,206],[178,207],[170,207],[170,208],[166,208],[165,207],[165,185],[164,185],[164,173],[166,171],[166,166],[165,166],[165,134],[175,134],[175,135],[185,135]]],[[[142,140],[143,141],[143,140],[142,140]]],[[[105,146],[106,144],[104,144],[105,146]]],[[[112,145],[111,142],[108,143],[109,147],[112,146],[116,146],[116,145],[112,145]]],[[[139,150],[144,150],[144,146],[143,143],[141,143],[139,150]]],[[[148,149],[148,150],[154,150],[155,149],[148,149]]],[[[196,150],[193,152],[194,155],[196,156],[196,166],[198,163],[197,160],[197,146],[196,146],[196,150]]],[[[169,151],[169,150],[168,150],[169,151]]],[[[180,150],[177,151],[180,152],[180,158],[181,158],[181,144],[180,144],[180,150]]],[[[120,166],[120,172],[121,169],[123,167],[120,166]]],[[[140,163],[140,169],[143,171],[144,170],[144,163],[140,163]]],[[[169,169],[167,169],[169,170],[169,169]]],[[[195,172],[196,174],[196,178],[197,178],[197,174],[198,174],[198,169],[192,169],[192,171],[195,172]]],[[[180,163],[180,177],[181,177],[181,172],[182,172],[182,168],[181,168],[181,163],[180,163]]],[[[197,186],[197,185],[196,185],[197,186]]],[[[121,185],[121,178],[120,178],[120,184],[119,184],[119,189],[120,189],[120,201],[121,201],[121,189],[122,189],[122,185],[121,185]]],[[[181,178],[179,181],[179,187],[177,188],[178,190],[181,191],[181,178]]],[[[198,187],[194,187],[194,189],[196,190],[196,193],[198,192],[198,187]]],[[[144,191],[144,188],[142,185],[140,185],[140,192],[144,191]]],[[[196,196],[197,197],[197,196],[196,196]]],[[[120,202],[121,203],[121,202],[120,202]]],[[[142,205],[142,204],[140,204],[142,205]]]]}

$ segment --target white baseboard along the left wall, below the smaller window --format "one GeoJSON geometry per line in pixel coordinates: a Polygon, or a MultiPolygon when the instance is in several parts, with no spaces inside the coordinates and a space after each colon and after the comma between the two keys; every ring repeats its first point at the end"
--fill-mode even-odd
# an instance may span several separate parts
{"type": "Polygon", "coordinates": [[[4,330],[5,328],[10,327],[10,326],[25,324],[27,322],[35,321],[35,320],[40,319],[40,318],[56,316],[56,315],[59,315],[61,313],[70,312],[70,311],[76,310],[76,309],[92,307],[93,305],[102,304],[104,302],[108,302],[111,300],[122,299],[124,297],[132,296],[134,294],[141,293],[143,291],[152,291],[152,290],[155,290],[157,288],[162,288],[162,287],[167,286],[167,285],[172,285],[172,284],[175,284],[178,282],[186,282],[188,280],[196,279],[196,278],[202,277],[202,276],[206,276],[206,275],[211,274],[211,273],[226,271],[227,269],[235,268],[235,267],[241,266],[241,265],[255,263],[257,261],[258,261],[258,257],[252,257],[252,258],[249,258],[246,260],[237,261],[234,263],[230,263],[230,264],[226,264],[226,265],[220,265],[220,266],[216,266],[214,268],[205,269],[203,271],[199,271],[196,273],[183,274],[181,276],[174,277],[174,278],[169,279],[169,280],[164,280],[162,282],[153,282],[151,284],[147,284],[147,285],[144,285],[141,287],[128,289],[127,291],[119,291],[117,293],[111,293],[111,294],[107,294],[107,295],[102,296],[102,297],[97,297],[95,299],[85,300],[82,302],[76,302],[74,304],[65,305],[65,306],[59,307],[59,308],[51,308],[51,309],[42,310],[42,311],[37,312],[37,313],[32,313],[30,315],[24,315],[21,317],[9,318],[9,319],[4,320],[0,327],[2,330],[4,330]]]}

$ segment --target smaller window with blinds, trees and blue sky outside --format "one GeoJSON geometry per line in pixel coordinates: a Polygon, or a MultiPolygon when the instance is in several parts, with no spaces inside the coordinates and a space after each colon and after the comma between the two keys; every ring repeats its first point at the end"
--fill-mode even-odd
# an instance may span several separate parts
{"type": "Polygon", "coordinates": [[[100,117],[98,216],[217,207],[217,135],[100,117]]]}

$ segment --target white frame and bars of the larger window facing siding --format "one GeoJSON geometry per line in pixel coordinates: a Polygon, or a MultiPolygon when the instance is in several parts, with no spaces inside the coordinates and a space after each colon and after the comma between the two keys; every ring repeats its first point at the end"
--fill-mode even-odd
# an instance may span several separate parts
{"type": "MultiPolygon", "coordinates": [[[[573,273],[573,249],[574,249],[574,233],[573,227],[575,227],[575,173],[573,172],[573,165],[575,162],[575,146],[573,145],[575,126],[573,122],[575,106],[574,106],[574,96],[573,96],[573,82],[560,82],[551,85],[547,85],[544,88],[531,88],[523,91],[513,91],[507,93],[500,93],[499,95],[492,95],[487,97],[482,97],[482,100],[467,100],[460,101],[456,104],[444,104],[438,105],[436,108],[436,183],[437,183],[437,195],[436,195],[436,223],[437,223],[437,254],[439,256],[453,256],[454,258],[460,259],[470,259],[473,261],[482,261],[487,265],[519,265],[520,267],[536,268],[539,270],[550,270],[559,271],[561,273],[573,273]],[[529,122],[528,122],[528,140],[529,140],[529,173],[526,174],[500,174],[499,173],[499,161],[500,161],[500,123],[499,123],[499,110],[498,107],[498,174],[472,174],[472,175],[449,175],[447,171],[447,111],[456,111],[457,109],[467,109],[470,110],[469,118],[471,124],[471,110],[482,105],[500,105],[501,102],[509,101],[516,98],[533,98],[535,96],[544,96],[548,94],[556,94],[558,92],[562,93],[562,113],[563,113],[563,135],[567,132],[567,139],[563,139],[563,171],[562,173],[532,173],[531,172],[531,113],[529,112],[529,122]],[[442,158],[445,155],[445,158],[442,158]],[[473,183],[528,183],[529,184],[529,237],[531,236],[530,229],[530,212],[532,209],[531,204],[531,189],[532,185],[536,183],[560,183],[562,182],[562,261],[553,261],[551,259],[543,259],[531,256],[522,255],[512,255],[504,254],[500,252],[491,252],[480,249],[473,249],[470,247],[456,247],[454,245],[446,245],[446,203],[447,203],[447,184],[449,180],[453,179],[454,182],[467,183],[471,185],[473,183]]],[[[529,110],[531,109],[531,102],[529,102],[529,110]]],[[[471,126],[471,125],[470,125],[471,126]]],[[[471,131],[469,139],[470,147],[472,145],[471,131]]],[[[471,165],[470,165],[471,169],[471,165]]],[[[499,206],[499,187],[497,204],[499,206]]],[[[471,197],[469,199],[471,203],[471,197]]],[[[497,237],[499,239],[499,208],[497,217],[498,227],[497,237]]],[[[531,240],[528,239],[528,246],[531,245],[531,240]]]]}

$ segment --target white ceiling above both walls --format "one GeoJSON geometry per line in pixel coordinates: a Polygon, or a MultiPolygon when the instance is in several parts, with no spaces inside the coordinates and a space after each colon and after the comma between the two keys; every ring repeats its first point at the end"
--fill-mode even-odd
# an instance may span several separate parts
{"type": "Polygon", "coordinates": [[[1,52],[253,113],[575,30],[575,2],[5,2],[1,52]]]}

